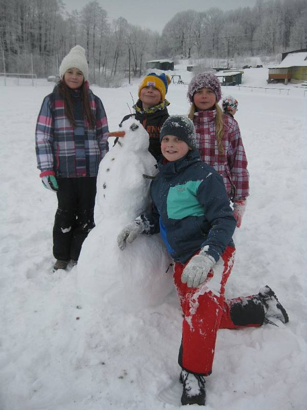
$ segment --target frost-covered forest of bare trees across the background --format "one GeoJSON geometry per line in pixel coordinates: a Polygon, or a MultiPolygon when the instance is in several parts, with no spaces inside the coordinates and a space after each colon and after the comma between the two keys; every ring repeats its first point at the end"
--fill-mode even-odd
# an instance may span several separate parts
{"type": "MultiPolygon", "coordinates": [[[[192,3],[191,3],[192,4],[192,3]]],[[[254,7],[211,8],[175,14],[162,34],[109,21],[97,1],[78,12],[62,0],[0,0],[0,72],[57,74],[71,47],[86,49],[91,80],[107,85],[128,68],[142,75],[145,61],[157,58],[236,58],[272,56],[307,48],[306,0],[257,0],[254,7]],[[31,58],[32,54],[32,58],[31,58]]]]}

